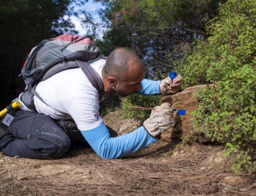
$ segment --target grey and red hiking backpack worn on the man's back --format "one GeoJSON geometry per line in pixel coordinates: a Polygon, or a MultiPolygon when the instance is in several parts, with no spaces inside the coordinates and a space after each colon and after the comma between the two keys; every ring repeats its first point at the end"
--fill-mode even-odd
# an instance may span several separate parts
{"type": "MultiPolygon", "coordinates": [[[[20,100],[30,109],[35,111],[34,95],[45,103],[36,93],[36,85],[53,75],[68,69],[81,68],[90,82],[99,92],[99,98],[103,94],[103,84],[99,75],[90,66],[90,62],[99,58],[99,49],[94,46],[91,36],[78,36],[63,34],[50,40],[41,41],[34,47],[22,68],[22,76],[26,83],[25,93],[20,100]]],[[[45,103],[46,104],[46,103],[45,103]]]]}

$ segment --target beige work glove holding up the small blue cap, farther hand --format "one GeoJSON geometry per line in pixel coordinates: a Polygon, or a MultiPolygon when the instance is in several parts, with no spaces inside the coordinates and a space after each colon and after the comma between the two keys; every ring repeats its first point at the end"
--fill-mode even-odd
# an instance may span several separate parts
{"type": "Polygon", "coordinates": [[[182,85],[182,76],[179,74],[174,81],[168,76],[160,83],[160,91],[162,95],[173,95],[178,93],[182,85]]]}

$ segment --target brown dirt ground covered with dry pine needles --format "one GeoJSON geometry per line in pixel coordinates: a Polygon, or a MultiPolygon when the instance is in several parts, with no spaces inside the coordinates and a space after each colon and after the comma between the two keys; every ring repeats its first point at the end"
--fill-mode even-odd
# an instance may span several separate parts
{"type": "MultiPolygon", "coordinates": [[[[115,124],[119,135],[138,126],[110,118],[106,124],[115,124]]],[[[0,195],[256,195],[256,173],[234,173],[224,151],[220,144],[159,140],[117,160],[74,146],[58,160],[1,153],[0,195]]]]}

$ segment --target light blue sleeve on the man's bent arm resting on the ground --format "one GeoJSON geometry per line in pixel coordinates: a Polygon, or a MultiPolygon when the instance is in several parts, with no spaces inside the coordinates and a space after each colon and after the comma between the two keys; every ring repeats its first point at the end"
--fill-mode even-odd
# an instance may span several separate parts
{"type": "Polygon", "coordinates": [[[143,126],[116,138],[110,137],[104,123],[94,129],[83,130],[81,133],[94,151],[104,159],[117,159],[132,154],[157,141],[146,132],[143,126]]]}

